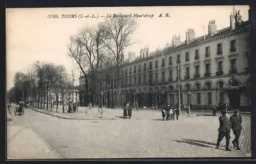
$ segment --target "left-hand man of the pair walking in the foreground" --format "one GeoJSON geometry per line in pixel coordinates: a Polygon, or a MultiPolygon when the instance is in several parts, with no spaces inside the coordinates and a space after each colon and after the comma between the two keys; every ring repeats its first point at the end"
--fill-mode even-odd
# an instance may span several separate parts
{"type": "Polygon", "coordinates": [[[220,121],[220,128],[218,129],[219,130],[219,135],[218,135],[216,148],[217,149],[219,148],[220,142],[225,136],[225,138],[226,138],[226,150],[231,151],[228,148],[229,140],[230,140],[231,125],[230,125],[229,119],[226,116],[226,111],[222,111],[222,116],[219,117],[219,121],[220,121]]]}

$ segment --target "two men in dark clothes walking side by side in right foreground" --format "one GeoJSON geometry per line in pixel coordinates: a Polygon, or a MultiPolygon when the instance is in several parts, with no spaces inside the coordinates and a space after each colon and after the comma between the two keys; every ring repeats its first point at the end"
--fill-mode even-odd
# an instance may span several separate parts
{"type": "Polygon", "coordinates": [[[241,134],[241,130],[242,130],[242,117],[239,114],[238,110],[234,110],[234,114],[232,116],[230,116],[230,118],[228,119],[228,117],[226,116],[226,111],[222,111],[221,112],[221,117],[219,118],[220,121],[220,128],[219,130],[219,135],[218,135],[218,140],[217,140],[217,145],[216,148],[219,148],[220,142],[221,140],[224,138],[226,138],[226,150],[227,151],[231,151],[228,146],[229,146],[229,140],[230,140],[230,129],[233,130],[234,133],[234,140],[232,141],[232,144],[234,147],[237,148],[237,150],[240,150],[239,147],[239,138],[240,138],[240,134],[241,134]]]}

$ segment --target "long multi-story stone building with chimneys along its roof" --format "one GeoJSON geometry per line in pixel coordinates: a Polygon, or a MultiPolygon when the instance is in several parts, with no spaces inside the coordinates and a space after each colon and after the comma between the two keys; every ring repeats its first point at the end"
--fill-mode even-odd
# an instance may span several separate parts
{"type": "MultiPolygon", "coordinates": [[[[150,53],[148,46],[135,58],[120,65],[117,95],[116,69],[101,75],[111,78],[110,90],[102,80],[103,104],[126,101],[151,107],[166,103],[178,104],[178,67],[180,103],[190,102],[195,108],[218,102],[230,107],[250,105],[250,24],[242,21],[240,11],[231,13],[230,26],[217,31],[217,22],[210,20],[208,34],[195,38],[195,30],[186,31],[186,40],[174,36],[172,43],[150,53]]],[[[105,79],[105,78],[104,78],[105,79]]],[[[82,80],[82,78],[80,79],[82,80]]],[[[194,108],[193,107],[193,108],[194,108]]]]}

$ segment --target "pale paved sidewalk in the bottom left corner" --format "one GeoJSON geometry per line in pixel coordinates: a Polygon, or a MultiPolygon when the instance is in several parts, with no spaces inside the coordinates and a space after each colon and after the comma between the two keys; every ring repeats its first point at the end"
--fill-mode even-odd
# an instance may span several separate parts
{"type": "MultiPolygon", "coordinates": [[[[14,106],[14,104],[12,104],[14,106]]],[[[10,108],[13,110],[13,108],[10,108]]],[[[7,110],[7,119],[11,119],[7,110]]],[[[7,120],[7,159],[63,158],[30,128],[17,126],[7,120]]]]}

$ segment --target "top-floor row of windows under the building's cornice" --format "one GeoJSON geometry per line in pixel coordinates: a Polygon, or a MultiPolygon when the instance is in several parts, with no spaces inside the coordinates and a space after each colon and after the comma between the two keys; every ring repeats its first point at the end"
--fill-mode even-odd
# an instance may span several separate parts
{"type": "MultiPolygon", "coordinates": [[[[232,40],[230,42],[230,52],[234,52],[236,51],[236,40],[232,40]]],[[[217,54],[222,54],[222,44],[218,44],[217,45],[217,54]]],[[[205,57],[208,58],[210,57],[210,47],[206,47],[205,48],[205,57]]],[[[199,49],[195,50],[195,60],[199,60],[199,49]]],[[[181,60],[180,60],[180,54],[177,54],[177,64],[180,64],[181,60]]],[[[189,62],[189,52],[185,53],[185,62],[189,62]]],[[[169,65],[173,64],[173,58],[169,57],[169,65]]],[[[165,59],[162,59],[162,63],[161,63],[162,67],[165,67],[165,59]]],[[[144,71],[146,71],[146,63],[144,63],[144,67],[143,67],[144,71]]],[[[152,62],[149,63],[149,69],[151,70],[152,67],[152,62]]],[[[155,61],[155,68],[158,68],[158,61],[155,61]]],[[[141,65],[139,65],[139,72],[141,72],[141,65]]],[[[136,73],[136,66],[134,66],[134,73],[136,73]]],[[[123,73],[121,73],[123,74],[123,73]]],[[[129,70],[129,74],[132,74],[132,67],[130,67],[129,70]]],[[[125,75],[127,75],[127,68],[125,68],[125,75]]]]}

